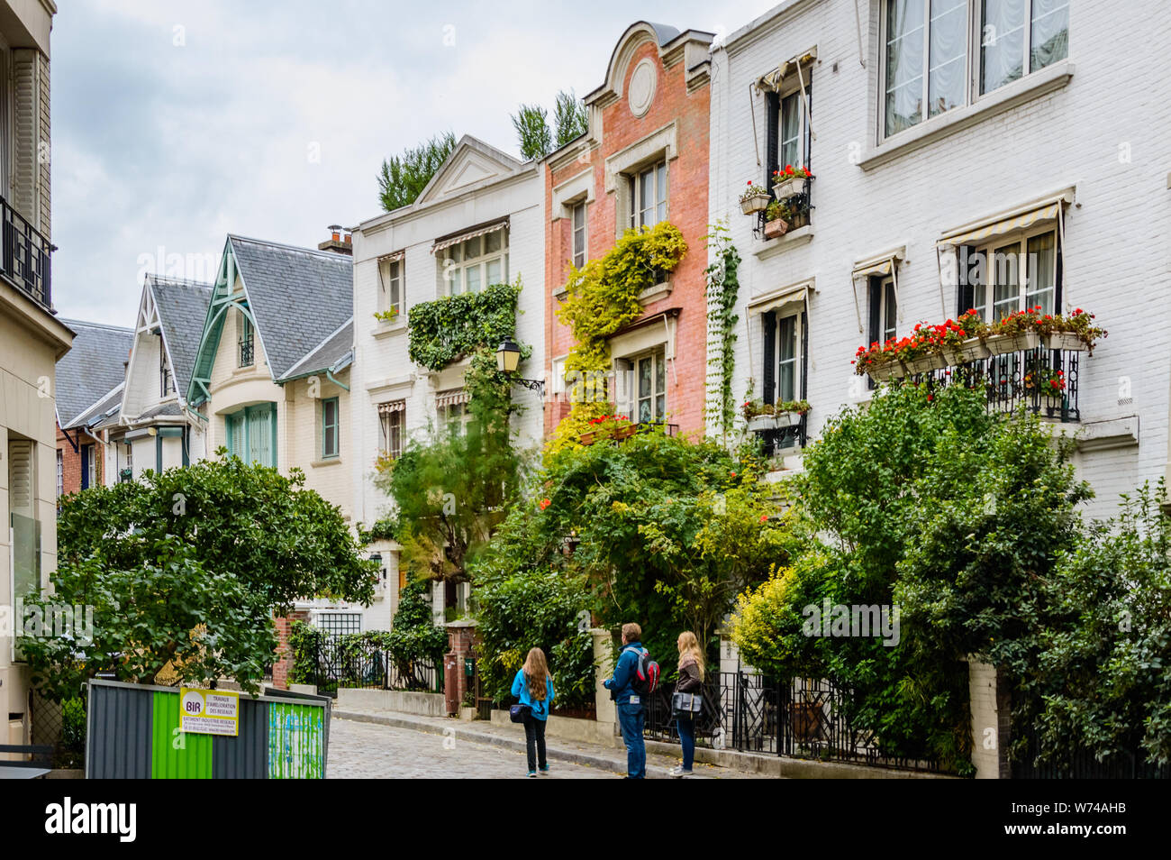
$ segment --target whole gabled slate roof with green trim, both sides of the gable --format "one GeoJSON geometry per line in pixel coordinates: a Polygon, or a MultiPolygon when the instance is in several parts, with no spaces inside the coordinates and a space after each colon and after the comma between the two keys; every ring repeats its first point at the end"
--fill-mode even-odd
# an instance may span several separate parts
{"type": "Polygon", "coordinates": [[[351,257],[228,234],[192,363],[192,404],[206,400],[203,385],[211,378],[234,275],[244,285],[247,313],[274,382],[323,348],[354,316],[351,257]]]}

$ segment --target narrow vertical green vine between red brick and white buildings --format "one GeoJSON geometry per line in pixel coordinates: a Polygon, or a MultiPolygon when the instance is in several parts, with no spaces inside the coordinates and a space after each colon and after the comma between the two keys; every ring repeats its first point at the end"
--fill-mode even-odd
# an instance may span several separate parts
{"type": "Polygon", "coordinates": [[[735,370],[735,326],[740,318],[733,313],[740,293],[740,252],[737,251],[727,226],[719,221],[705,237],[711,265],[707,278],[707,423],[719,429],[727,441],[735,422],[735,397],[732,396],[732,375],[735,370]]]}

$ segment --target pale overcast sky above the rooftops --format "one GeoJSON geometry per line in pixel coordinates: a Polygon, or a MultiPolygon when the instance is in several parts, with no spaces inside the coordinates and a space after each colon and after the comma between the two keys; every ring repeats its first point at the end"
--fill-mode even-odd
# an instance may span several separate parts
{"type": "Polygon", "coordinates": [[[438,131],[516,153],[518,103],[593,90],[634,21],[731,33],[774,5],[59,0],[54,305],[132,326],[146,268],[210,279],[228,232],[315,247],[438,131]]]}

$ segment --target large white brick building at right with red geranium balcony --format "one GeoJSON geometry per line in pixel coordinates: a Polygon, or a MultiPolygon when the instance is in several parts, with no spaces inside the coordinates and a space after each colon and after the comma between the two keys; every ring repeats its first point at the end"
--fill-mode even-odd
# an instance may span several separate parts
{"type": "MultiPolygon", "coordinates": [[[[1080,355],[1068,424],[1090,512],[1165,473],[1171,107],[1156,94],[1171,15],[1124,6],[788,0],[713,49],[711,220],[744,255],[738,402],[768,382],[810,402],[816,436],[870,396],[860,344],[979,303],[949,254],[1015,247],[1032,281],[1009,273],[985,302],[1019,291],[1012,302],[1081,307],[1109,332],[1080,355]],[[765,239],[738,197],[778,162],[809,165],[813,209],[765,239]]],[[[797,446],[783,464],[799,463],[797,446]]]]}

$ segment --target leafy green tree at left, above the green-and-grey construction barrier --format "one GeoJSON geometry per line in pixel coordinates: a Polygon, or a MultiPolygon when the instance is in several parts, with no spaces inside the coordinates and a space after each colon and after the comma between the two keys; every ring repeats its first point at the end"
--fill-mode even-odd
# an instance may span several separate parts
{"type": "Polygon", "coordinates": [[[314,595],[374,598],[376,571],[341,511],[303,483],[208,459],[67,498],[52,601],[93,606],[94,641],[22,640],[37,677],[71,696],[101,670],[150,682],[170,667],[256,689],[274,614],[314,595]]]}

